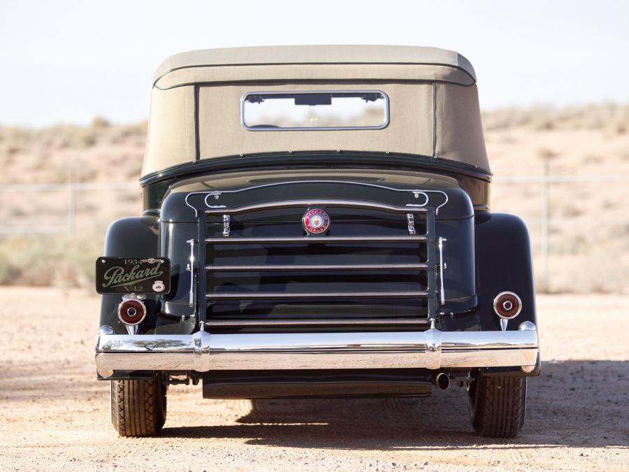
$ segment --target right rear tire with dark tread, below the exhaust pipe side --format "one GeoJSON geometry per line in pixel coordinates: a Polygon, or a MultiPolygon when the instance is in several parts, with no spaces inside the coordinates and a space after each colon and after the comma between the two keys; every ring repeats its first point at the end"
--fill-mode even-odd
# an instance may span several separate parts
{"type": "Polygon", "coordinates": [[[470,420],[481,436],[515,438],[524,424],[526,377],[478,376],[470,384],[470,420]]]}

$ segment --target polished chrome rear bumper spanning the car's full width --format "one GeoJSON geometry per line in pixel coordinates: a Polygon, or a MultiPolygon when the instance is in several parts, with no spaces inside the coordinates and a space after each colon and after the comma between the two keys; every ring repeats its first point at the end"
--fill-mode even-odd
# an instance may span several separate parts
{"type": "Polygon", "coordinates": [[[366,333],[122,335],[99,331],[96,369],[197,371],[280,369],[454,369],[537,362],[537,329],[366,333]]]}

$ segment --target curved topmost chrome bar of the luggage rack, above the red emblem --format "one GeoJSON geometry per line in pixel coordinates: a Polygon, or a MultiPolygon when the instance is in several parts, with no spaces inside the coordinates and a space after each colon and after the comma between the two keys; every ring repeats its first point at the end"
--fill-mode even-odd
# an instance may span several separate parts
{"type": "Polygon", "coordinates": [[[407,213],[410,208],[415,212],[425,213],[427,208],[421,205],[407,203],[406,206],[387,205],[386,203],[377,203],[375,201],[359,201],[359,200],[337,200],[337,199],[296,199],[283,201],[269,201],[267,203],[253,203],[252,205],[237,206],[235,208],[226,208],[223,205],[209,206],[205,210],[205,214],[213,215],[215,213],[229,213],[237,215],[239,213],[247,213],[249,211],[266,210],[268,208],[291,208],[295,206],[340,206],[345,208],[366,208],[369,210],[388,211],[391,213],[407,213]]]}

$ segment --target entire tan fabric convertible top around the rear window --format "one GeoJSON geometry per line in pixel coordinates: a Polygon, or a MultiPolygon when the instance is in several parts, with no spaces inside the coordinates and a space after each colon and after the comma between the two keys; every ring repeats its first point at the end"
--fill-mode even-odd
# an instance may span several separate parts
{"type": "Polygon", "coordinates": [[[400,152],[489,171],[476,76],[457,52],[306,45],[184,52],[154,75],[143,176],[200,159],[287,151],[400,152]],[[382,90],[384,129],[250,131],[247,92],[382,90]]]}

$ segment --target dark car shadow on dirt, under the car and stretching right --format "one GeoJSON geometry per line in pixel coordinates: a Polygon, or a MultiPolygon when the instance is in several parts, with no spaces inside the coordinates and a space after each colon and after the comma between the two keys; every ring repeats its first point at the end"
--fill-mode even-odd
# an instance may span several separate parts
{"type": "Polygon", "coordinates": [[[623,447],[628,400],[629,362],[546,362],[540,377],[529,380],[526,424],[514,440],[477,436],[467,393],[458,387],[424,399],[254,400],[238,424],[166,427],[162,436],[352,450],[623,447]]]}

